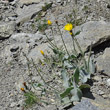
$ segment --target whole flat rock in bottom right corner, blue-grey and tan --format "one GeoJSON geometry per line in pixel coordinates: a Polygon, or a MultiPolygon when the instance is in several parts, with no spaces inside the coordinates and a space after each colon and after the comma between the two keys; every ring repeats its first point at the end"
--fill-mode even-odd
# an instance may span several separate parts
{"type": "Polygon", "coordinates": [[[82,98],[82,101],[69,110],[110,110],[110,100],[94,94],[95,99],[82,98]]]}

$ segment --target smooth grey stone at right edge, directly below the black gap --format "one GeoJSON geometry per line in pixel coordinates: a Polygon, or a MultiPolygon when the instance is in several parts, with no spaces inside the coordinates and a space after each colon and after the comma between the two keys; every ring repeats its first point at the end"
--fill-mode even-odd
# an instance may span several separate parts
{"type": "Polygon", "coordinates": [[[97,61],[97,70],[103,71],[110,76],[110,48],[106,48],[103,55],[95,59],[97,61]]]}

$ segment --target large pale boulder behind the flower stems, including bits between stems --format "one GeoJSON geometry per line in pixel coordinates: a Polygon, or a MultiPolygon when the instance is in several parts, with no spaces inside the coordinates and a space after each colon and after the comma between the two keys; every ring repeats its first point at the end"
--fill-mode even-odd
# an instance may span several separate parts
{"type": "MultiPolygon", "coordinates": [[[[63,33],[63,39],[69,50],[72,50],[72,38],[69,32],[61,30],[63,33]]],[[[102,42],[108,41],[110,39],[110,23],[104,21],[90,21],[77,26],[73,29],[73,32],[81,31],[79,35],[76,36],[77,41],[79,42],[81,49],[85,52],[89,50],[91,44],[92,48],[101,44],[102,42]]],[[[55,40],[58,45],[62,45],[62,40],[60,36],[55,36],[55,40]]],[[[76,46],[77,52],[79,49],[76,46]]]]}

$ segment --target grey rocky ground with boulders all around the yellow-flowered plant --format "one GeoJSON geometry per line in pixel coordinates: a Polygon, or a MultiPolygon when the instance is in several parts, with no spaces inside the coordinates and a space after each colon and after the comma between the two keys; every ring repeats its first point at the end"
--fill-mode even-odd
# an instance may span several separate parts
{"type": "MultiPolygon", "coordinates": [[[[55,25],[55,21],[58,21],[68,49],[71,50],[70,35],[63,27],[75,17],[75,30],[81,30],[77,40],[86,53],[92,43],[96,73],[91,77],[91,93],[86,92],[86,98],[66,110],[110,110],[109,0],[0,0],[0,110],[23,109],[24,96],[20,88],[23,82],[30,81],[23,52],[29,59],[33,58],[36,64],[39,58],[43,59],[40,50],[44,50],[45,53],[49,50],[44,32],[53,40],[46,20],[50,19],[53,22],[54,38],[58,45],[61,45],[55,25]],[[76,16],[74,10],[77,12],[76,16]]],[[[40,80],[35,73],[31,80],[40,80]]],[[[49,76],[49,73],[45,75],[47,81],[50,80],[49,76]]],[[[58,79],[56,82],[52,79],[52,82],[52,86],[60,84],[58,79]]],[[[51,105],[42,107],[36,104],[30,110],[64,109],[54,105],[54,98],[49,97],[48,100],[51,100],[51,105]]]]}

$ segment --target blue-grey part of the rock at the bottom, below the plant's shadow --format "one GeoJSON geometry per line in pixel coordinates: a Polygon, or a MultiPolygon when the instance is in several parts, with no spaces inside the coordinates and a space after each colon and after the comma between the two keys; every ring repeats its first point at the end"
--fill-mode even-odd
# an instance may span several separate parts
{"type": "Polygon", "coordinates": [[[100,109],[92,105],[89,100],[85,99],[85,100],[82,100],[79,104],[76,104],[70,110],[100,110],[100,109]]]}

